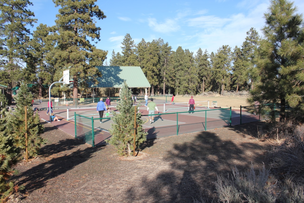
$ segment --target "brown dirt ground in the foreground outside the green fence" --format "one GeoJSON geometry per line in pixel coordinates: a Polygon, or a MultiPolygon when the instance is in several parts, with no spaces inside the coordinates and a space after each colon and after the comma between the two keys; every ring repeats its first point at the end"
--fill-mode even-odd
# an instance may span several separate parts
{"type": "Polygon", "coordinates": [[[262,166],[270,147],[251,136],[261,122],[148,140],[137,157],[122,158],[43,124],[40,156],[16,167],[26,189],[15,202],[211,202],[217,174],[262,166]]]}

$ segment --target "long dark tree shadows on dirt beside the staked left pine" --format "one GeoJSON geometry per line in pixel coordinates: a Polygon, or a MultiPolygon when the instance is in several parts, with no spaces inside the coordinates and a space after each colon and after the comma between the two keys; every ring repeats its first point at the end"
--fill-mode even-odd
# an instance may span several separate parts
{"type": "Polygon", "coordinates": [[[73,169],[78,164],[90,159],[94,152],[105,148],[87,147],[84,149],[74,149],[81,144],[83,143],[77,139],[65,139],[58,143],[44,146],[40,152],[43,158],[49,160],[16,175],[14,177],[15,180],[18,180],[16,183],[18,185],[24,185],[28,192],[40,189],[47,184],[48,180],[73,169]],[[73,149],[75,151],[71,153],[60,154],[60,152],[73,149]]]}

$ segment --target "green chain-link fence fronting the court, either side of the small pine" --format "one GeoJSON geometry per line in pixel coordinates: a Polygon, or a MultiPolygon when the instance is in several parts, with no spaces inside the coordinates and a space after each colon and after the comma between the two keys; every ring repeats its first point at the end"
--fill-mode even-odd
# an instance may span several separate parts
{"type": "MultiPolygon", "coordinates": [[[[75,137],[88,144],[104,145],[111,137],[109,130],[112,119],[93,118],[74,114],[75,137]]],[[[226,109],[206,109],[193,112],[175,112],[142,115],[143,129],[147,139],[193,133],[203,130],[231,126],[231,107],[226,109]]]]}

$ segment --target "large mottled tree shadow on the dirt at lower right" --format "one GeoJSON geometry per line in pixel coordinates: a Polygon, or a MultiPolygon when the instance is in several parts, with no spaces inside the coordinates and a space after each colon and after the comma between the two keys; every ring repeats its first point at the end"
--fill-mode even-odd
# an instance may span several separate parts
{"type": "Polygon", "coordinates": [[[126,199],[128,202],[140,199],[134,194],[142,188],[141,196],[153,200],[151,202],[192,202],[201,198],[211,202],[215,197],[217,174],[226,177],[235,167],[241,171],[249,169],[251,162],[262,162],[258,154],[248,159],[247,151],[251,150],[261,149],[250,142],[235,144],[229,139],[223,140],[221,135],[200,132],[190,141],[174,144],[173,150],[164,157],[170,169],[159,171],[153,180],[144,177],[138,187],[126,192],[126,199]]]}

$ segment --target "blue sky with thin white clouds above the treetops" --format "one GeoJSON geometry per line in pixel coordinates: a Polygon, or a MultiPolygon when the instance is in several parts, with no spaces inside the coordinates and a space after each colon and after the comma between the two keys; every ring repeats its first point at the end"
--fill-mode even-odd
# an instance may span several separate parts
{"type": "MultiPolygon", "coordinates": [[[[58,7],[51,0],[31,0],[29,9],[35,13],[40,23],[53,26],[58,7]]],[[[229,45],[232,50],[241,46],[246,32],[254,27],[261,36],[264,13],[267,12],[268,0],[199,0],[199,1],[101,1],[99,6],[107,16],[98,20],[96,26],[102,30],[97,48],[121,52],[121,42],[129,33],[138,44],[143,38],[146,42],[162,38],[175,51],[178,46],[196,54],[202,48],[210,54],[217,52],[222,45],[229,45]]],[[[295,0],[298,12],[304,11],[304,1],[295,0]]],[[[34,31],[36,28],[31,28],[34,31]]]]}

